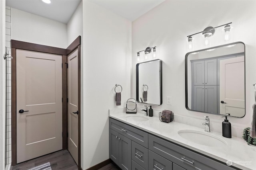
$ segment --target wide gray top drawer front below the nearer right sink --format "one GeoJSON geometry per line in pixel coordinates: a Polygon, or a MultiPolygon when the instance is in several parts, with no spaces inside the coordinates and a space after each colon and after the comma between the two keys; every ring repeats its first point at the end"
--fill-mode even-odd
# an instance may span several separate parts
{"type": "Polygon", "coordinates": [[[192,152],[191,150],[185,149],[153,135],[148,135],[148,149],[187,170],[234,170],[226,164],[211,160],[206,156],[192,152]]]}

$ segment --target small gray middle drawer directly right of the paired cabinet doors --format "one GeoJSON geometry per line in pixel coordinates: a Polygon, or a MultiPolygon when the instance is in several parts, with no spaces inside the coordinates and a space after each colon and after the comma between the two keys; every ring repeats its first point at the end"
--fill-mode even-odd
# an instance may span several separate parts
{"type": "Polygon", "coordinates": [[[148,149],[132,141],[132,160],[134,160],[136,163],[138,163],[140,166],[147,170],[148,149]]]}

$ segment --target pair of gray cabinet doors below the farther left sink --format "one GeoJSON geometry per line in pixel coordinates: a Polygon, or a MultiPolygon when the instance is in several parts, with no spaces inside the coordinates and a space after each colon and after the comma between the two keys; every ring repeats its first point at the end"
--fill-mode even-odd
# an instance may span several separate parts
{"type": "Polygon", "coordinates": [[[109,130],[109,157],[122,169],[132,169],[132,141],[118,132],[109,130]]]}

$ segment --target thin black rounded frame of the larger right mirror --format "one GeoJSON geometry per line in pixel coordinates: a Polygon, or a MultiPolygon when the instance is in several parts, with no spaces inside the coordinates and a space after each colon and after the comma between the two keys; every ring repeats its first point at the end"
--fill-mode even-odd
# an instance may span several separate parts
{"type": "MultiPolygon", "coordinates": [[[[234,42],[234,43],[218,45],[218,46],[215,46],[215,47],[210,47],[210,48],[207,48],[207,49],[200,49],[200,50],[197,50],[197,51],[191,51],[191,52],[186,53],[186,55],[185,55],[185,98],[186,98],[186,105],[185,106],[186,106],[187,110],[196,111],[196,110],[192,110],[192,109],[188,108],[188,55],[190,55],[191,53],[206,51],[208,49],[215,49],[215,48],[225,47],[225,46],[228,46],[228,45],[233,45],[233,44],[238,44],[238,43],[241,43],[241,44],[244,45],[244,106],[246,106],[246,86],[245,86],[245,82],[246,82],[246,61],[245,61],[245,59],[246,59],[245,56],[246,55],[245,55],[245,53],[246,53],[246,51],[245,51],[245,44],[242,41],[237,41],[237,42],[234,42]]],[[[218,113],[210,113],[210,112],[204,112],[204,111],[196,111],[196,112],[208,113],[208,114],[220,115],[220,116],[236,117],[236,116],[221,115],[221,114],[218,114],[218,113]]],[[[246,107],[244,107],[244,115],[242,117],[244,117],[245,115],[246,115],[246,107]]],[[[236,118],[242,118],[242,117],[236,117],[236,118]]]]}

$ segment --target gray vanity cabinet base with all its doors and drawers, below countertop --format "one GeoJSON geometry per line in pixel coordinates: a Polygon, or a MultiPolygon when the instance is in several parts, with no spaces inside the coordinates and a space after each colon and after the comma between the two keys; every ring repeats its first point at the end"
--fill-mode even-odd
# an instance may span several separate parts
{"type": "Polygon", "coordinates": [[[224,162],[115,119],[109,122],[109,157],[123,170],[234,170],[224,162]]]}

